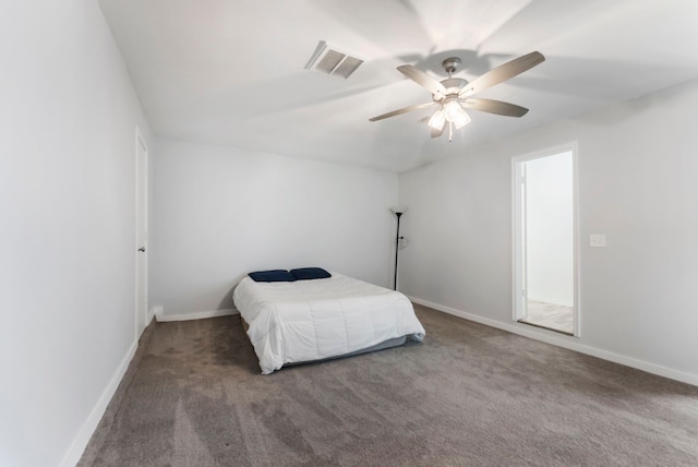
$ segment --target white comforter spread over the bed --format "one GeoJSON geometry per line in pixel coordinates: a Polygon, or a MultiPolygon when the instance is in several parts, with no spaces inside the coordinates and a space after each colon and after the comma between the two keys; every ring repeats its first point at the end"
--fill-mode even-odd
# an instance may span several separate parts
{"type": "Polygon", "coordinates": [[[294,283],[245,277],[232,298],[250,326],[263,374],[284,363],[336,357],[396,337],[424,338],[407,297],[337,273],[294,283]]]}

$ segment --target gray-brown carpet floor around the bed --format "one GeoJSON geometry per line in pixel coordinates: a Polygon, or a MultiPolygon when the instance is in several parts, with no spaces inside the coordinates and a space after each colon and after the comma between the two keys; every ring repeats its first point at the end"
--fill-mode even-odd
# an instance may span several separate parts
{"type": "Polygon", "coordinates": [[[698,387],[416,310],[422,344],[268,376],[240,316],[153,324],[80,465],[698,465],[698,387]]]}

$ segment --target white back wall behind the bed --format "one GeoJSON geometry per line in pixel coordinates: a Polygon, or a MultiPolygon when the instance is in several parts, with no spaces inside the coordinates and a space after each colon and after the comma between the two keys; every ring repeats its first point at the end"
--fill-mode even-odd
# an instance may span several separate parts
{"type": "Polygon", "coordinates": [[[397,175],[158,140],[151,303],[232,309],[248,272],[321,266],[388,286],[397,175]]]}

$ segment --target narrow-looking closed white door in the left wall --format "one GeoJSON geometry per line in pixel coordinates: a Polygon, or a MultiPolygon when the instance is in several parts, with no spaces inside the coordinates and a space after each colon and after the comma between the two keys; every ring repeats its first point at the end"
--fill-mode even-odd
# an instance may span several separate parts
{"type": "Polygon", "coordinates": [[[136,128],[135,132],[135,336],[148,325],[148,149],[136,128]]]}

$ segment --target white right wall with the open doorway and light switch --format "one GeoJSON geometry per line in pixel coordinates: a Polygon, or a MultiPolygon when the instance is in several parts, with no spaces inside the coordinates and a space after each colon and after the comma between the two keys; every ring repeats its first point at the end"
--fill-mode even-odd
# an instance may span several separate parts
{"type": "Polygon", "coordinates": [[[697,106],[686,83],[400,175],[401,288],[524,330],[512,321],[510,159],[577,140],[581,336],[521,332],[698,384],[697,106]],[[589,248],[590,234],[607,248],[589,248]]]}

